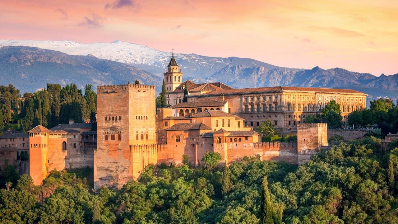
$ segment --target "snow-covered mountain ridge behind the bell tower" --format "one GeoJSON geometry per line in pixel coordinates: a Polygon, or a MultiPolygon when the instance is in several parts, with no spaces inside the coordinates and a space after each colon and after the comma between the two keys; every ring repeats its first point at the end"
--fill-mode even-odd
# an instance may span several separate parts
{"type": "MultiPolygon", "coordinates": [[[[2,46],[29,46],[60,51],[68,55],[94,55],[107,59],[131,64],[162,77],[167,67],[171,52],[159,51],[136,43],[113,41],[112,43],[77,43],[73,41],[37,41],[37,40],[0,40],[2,46]]],[[[196,54],[174,53],[184,78],[202,78],[213,75],[227,65],[244,65],[246,67],[265,67],[266,69],[281,68],[261,61],[238,57],[207,57],[196,54]]],[[[291,69],[299,71],[303,69],[291,69]]]]}

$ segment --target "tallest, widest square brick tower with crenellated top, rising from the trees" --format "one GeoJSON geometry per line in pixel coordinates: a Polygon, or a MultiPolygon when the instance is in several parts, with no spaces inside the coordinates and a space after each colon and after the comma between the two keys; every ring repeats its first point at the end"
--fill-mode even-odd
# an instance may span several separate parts
{"type": "Polygon", "coordinates": [[[94,188],[120,189],[137,179],[156,157],[155,86],[123,84],[97,87],[97,150],[94,152],[94,188]],[[137,145],[139,147],[137,147],[137,145]]]}

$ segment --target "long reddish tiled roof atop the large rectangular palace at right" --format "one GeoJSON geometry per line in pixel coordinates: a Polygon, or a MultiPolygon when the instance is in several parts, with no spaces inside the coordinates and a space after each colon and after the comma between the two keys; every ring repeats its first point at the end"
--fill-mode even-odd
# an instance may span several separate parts
{"type": "Polygon", "coordinates": [[[273,86],[273,87],[258,87],[258,88],[239,88],[214,90],[205,94],[238,94],[248,92],[283,92],[283,91],[299,91],[299,92],[334,92],[334,93],[357,93],[364,94],[352,89],[338,89],[338,88],[314,88],[314,87],[293,87],[293,86],[273,86]]]}

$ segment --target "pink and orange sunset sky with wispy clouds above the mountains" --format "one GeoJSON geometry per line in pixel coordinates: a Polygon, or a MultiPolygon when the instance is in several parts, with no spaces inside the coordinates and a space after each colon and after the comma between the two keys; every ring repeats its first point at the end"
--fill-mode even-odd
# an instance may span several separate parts
{"type": "Polygon", "coordinates": [[[272,65],[398,73],[397,0],[0,0],[0,39],[116,39],[272,65]]]}

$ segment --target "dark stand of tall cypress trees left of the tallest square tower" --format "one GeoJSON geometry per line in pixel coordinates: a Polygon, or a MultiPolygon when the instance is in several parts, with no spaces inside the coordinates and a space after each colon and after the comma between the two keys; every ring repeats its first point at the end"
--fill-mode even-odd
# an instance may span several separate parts
{"type": "Polygon", "coordinates": [[[52,128],[67,124],[70,119],[82,122],[91,118],[95,123],[97,94],[92,84],[86,84],[82,92],[76,84],[61,87],[47,83],[46,88],[21,96],[20,90],[9,84],[0,86],[0,105],[0,134],[4,130],[27,132],[37,125],[52,128]]]}

